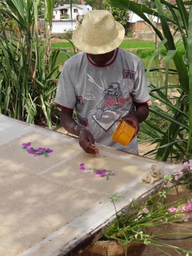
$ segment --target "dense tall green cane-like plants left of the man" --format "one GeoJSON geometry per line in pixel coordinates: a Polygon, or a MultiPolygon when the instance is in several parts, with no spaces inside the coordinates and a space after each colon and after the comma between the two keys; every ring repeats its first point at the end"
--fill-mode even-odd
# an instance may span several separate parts
{"type": "Polygon", "coordinates": [[[0,5],[0,113],[49,128],[58,115],[53,105],[60,51],[51,49],[54,3],[44,1],[44,40],[38,37],[40,0],[3,0],[0,5]]]}

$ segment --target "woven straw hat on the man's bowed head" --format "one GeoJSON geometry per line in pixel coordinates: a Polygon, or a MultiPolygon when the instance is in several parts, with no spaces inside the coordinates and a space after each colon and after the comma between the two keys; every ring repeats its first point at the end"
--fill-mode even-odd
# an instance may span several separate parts
{"type": "Polygon", "coordinates": [[[123,41],[124,27],[109,11],[89,11],[82,24],[73,32],[75,46],[91,54],[103,54],[116,49],[123,41]]]}

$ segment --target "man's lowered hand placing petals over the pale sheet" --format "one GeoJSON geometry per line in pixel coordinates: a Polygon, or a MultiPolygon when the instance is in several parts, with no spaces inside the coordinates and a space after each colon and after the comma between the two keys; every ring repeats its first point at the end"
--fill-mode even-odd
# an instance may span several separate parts
{"type": "Polygon", "coordinates": [[[94,138],[91,132],[82,130],[79,134],[79,145],[86,153],[95,154],[99,153],[99,150],[95,148],[94,138]]]}

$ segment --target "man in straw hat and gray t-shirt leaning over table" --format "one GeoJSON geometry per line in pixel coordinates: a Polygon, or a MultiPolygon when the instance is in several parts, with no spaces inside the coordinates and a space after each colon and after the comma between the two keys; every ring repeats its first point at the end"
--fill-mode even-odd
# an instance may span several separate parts
{"type": "Polygon", "coordinates": [[[61,106],[61,125],[79,136],[90,154],[98,154],[95,142],[138,153],[136,134],[148,116],[150,96],[141,60],[118,48],[123,38],[124,27],[110,12],[87,12],[72,37],[82,52],[65,61],[60,74],[55,103],[61,106]],[[135,127],[126,147],[111,139],[121,120],[135,127]]]}

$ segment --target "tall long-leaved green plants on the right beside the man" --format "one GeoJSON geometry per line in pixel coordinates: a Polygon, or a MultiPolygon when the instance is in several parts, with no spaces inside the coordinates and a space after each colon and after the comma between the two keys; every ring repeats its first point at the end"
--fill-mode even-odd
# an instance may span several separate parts
{"type": "Polygon", "coordinates": [[[191,34],[192,34],[192,11],[186,11],[184,4],[192,4],[191,2],[183,2],[176,0],[176,4],[170,4],[165,0],[152,1],[156,5],[156,11],[135,3],[129,0],[110,0],[114,7],[121,9],[129,9],[145,20],[156,32],[156,36],[162,42],[154,52],[152,59],[159,54],[159,50],[164,44],[166,47],[166,67],[150,69],[150,61],[148,71],[158,70],[165,73],[165,82],[161,87],[155,84],[150,85],[150,95],[159,100],[165,108],[150,107],[150,111],[155,115],[162,117],[167,123],[167,131],[159,131],[153,124],[146,122],[144,130],[146,133],[152,132],[152,143],[157,143],[155,150],[149,152],[156,153],[156,159],[166,161],[168,157],[190,158],[191,151],[191,127],[192,127],[192,60],[191,60],[191,34]],[[172,14],[172,19],[166,16],[165,10],[169,10],[172,14]],[[154,15],[161,21],[161,29],[156,26],[145,16],[145,14],[154,15]],[[178,19],[178,13],[180,19],[178,19]],[[171,22],[176,27],[176,36],[170,30],[168,22],[171,22]],[[179,40],[178,40],[179,37],[179,40]],[[182,55],[178,50],[179,44],[183,44],[185,54],[182,55]],[[175,70],[169,69],[169,62],[173,60],[175,70]],[[178,83],[171,84],[169,78],[171,75],[178,77],[178,83]],[[171,85],[171,86],[170,86],[171,85]],[[176,90],[178,96],[174,98],[174,102],[167,95],[167,91],[176,90]],[[155,131],[155,132],[153,132],[155,131]],[[189,153],[188,153],[189,152],[189,153]]]}

